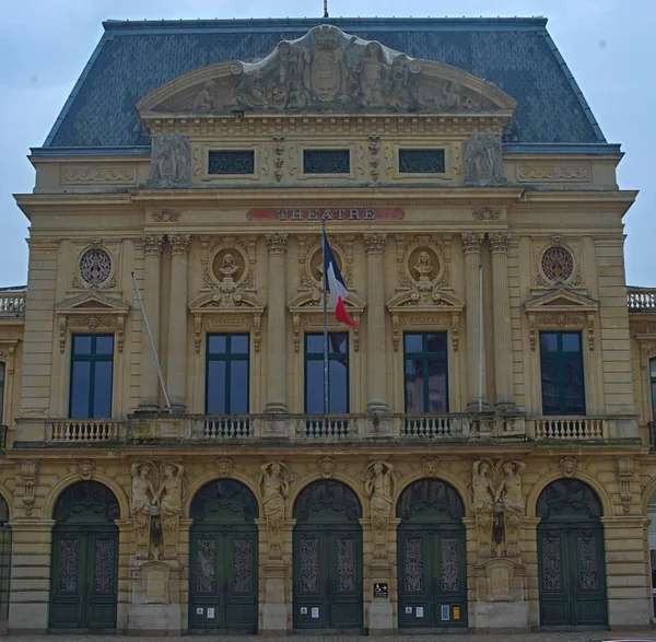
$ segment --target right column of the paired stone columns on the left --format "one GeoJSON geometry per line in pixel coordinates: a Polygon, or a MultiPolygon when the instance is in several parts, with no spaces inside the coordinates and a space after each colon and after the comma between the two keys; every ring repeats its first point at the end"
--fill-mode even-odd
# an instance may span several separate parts
{"type": "Polygon", "coordinates": [[[187,407],[187,257],[190,236],[172,234],[171,299],[168,305],[168,376],[166,385],[172,406],[187,407]]]}

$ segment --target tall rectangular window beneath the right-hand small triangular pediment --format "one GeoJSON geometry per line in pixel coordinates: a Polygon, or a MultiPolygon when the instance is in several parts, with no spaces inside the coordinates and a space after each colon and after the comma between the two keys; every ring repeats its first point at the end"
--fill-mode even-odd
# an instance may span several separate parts
{"type": "Polygon", "coordinates": [[[581,332],[540,332],[543,415],[585,415],[581,332]]]}

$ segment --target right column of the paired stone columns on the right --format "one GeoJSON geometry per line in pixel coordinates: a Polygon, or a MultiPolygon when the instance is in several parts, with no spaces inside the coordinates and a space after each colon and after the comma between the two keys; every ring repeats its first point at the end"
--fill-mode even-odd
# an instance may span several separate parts
{"type": "Polygon", "coordinates": [[[511,345],[511,299],[508,294],[507,232],[488,236],[492,253],[492,305],[494,316],[494,385],[495,406],[500,410],[515,407],[513,395],[513,347],[511,345]]]}

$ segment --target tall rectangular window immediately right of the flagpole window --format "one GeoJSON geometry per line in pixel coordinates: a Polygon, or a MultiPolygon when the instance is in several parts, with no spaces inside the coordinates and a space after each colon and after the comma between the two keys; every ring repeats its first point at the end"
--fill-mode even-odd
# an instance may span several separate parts
{"type": "Polygon", "coordinates": [[[403,335],[406,412],[448,412],[446,332],[403,335]]]}

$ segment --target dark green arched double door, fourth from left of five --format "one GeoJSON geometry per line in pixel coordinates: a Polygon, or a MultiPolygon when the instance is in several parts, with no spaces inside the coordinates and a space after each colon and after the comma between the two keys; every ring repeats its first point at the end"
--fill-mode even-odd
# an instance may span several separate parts
{"type": "Polygon", "coordinates": [[[440,479],[403,490],[396,516],[399,629],[467,627],[467,562],[458,491],[440,479]]]}

